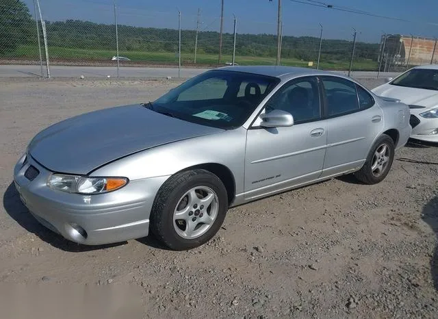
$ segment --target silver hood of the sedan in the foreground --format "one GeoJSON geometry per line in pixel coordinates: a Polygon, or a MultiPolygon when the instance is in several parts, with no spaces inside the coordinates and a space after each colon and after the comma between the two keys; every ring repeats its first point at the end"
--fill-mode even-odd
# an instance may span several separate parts
{"type": "Polygon", "coordinates": [[[58,173],[86,175],[120,157],[154,146],[218,133],[197,125],[127,105],[69,118],[38,133],[28,152],[58,173]]]}

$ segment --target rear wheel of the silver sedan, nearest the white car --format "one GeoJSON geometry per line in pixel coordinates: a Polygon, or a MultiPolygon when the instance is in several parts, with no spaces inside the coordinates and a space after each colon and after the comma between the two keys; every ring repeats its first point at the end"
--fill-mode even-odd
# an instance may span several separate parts
{"type": "Polygon", "coordinates": [[[374,142],[362,168],[354,173],[365,184],[380,183],[388,175],[394,161],[394,140],[383,134],[374,142]]]}

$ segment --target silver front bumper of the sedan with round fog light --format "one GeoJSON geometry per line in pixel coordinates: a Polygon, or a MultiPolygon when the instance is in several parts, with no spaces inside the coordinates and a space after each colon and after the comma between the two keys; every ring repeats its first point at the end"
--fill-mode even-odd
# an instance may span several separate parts
{"type": "Polygon", "coordinates": [[[168,178],[138,179],[114,192],[82,195],[49,188],[46,182],[51,173],[30,156],[21,157],[14,168],[20,198],[42,225],[68,240],[87,245],[148,235],[155,194],[168,178]],[[39,171],[35,178],[31,176],[33,180],[29,174],[25,176],[29,166],[39,171]]]}

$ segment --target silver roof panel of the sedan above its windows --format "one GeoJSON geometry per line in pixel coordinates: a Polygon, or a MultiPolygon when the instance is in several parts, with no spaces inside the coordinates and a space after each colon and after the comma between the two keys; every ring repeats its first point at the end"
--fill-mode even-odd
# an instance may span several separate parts
{"type": "Polygon", "coordinates": [[[303,75],[335,75],[337,77],[344,77],[339,73],[315,70],[313,68],[300,68],[297,66],[224,66],[218,68],[218,70],[255,73],[270,77],[279,77],[281,79],[292,79],[303,75]]]}

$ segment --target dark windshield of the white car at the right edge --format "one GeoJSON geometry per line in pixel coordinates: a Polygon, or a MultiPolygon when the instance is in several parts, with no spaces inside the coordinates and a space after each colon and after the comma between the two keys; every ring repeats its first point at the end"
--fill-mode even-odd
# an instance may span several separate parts
{"type": "Polygon", "coordinates": [[[407,86],[409,88],[424,88],[438,90],[438,70],[429,68],[413,68],[391,82],[393,86],[407,86]]]}

